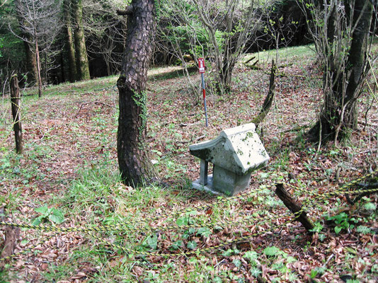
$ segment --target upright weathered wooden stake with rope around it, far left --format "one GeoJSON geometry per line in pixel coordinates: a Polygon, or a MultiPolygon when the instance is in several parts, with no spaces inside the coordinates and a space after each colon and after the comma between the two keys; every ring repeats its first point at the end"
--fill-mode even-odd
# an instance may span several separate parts
{"type": "Polygon", "coordinates": [[[16,139],[16,152],[23,152],[23,133],[21,126],[20,88],[18,88],[17,75],[11,78],[11,105],[13,116],[14,137],[16,139]]]}

